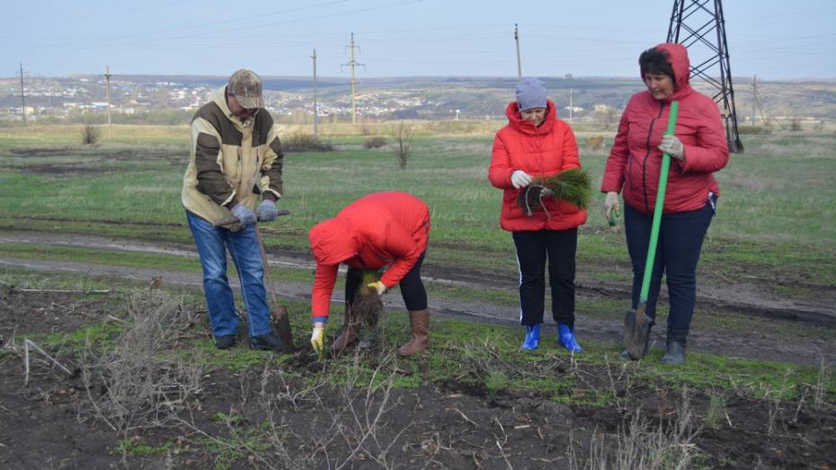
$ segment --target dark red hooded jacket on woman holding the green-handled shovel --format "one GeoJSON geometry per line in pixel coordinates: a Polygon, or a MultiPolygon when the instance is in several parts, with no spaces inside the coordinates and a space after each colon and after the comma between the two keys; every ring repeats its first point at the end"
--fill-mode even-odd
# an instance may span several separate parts
{"type": "Polygon", "coordinates": [[[697,210],[706,206],[709,191],[720,193],[712,173],[729,160],[723,120],[716,103],[691,88],[687,49],[681,44],[660,44],[656,49],[668,53],[674,91],[663,101],[646,90],[630,98],[618,123],[600,191],[623,189],[626,204],[639,212],[653,213],[662,166],[662,152],[657,147],[667,129],[671,102],[679,101],[676,137],[685,148],[685,161],[671,159],[663,213],[697,210]]]}

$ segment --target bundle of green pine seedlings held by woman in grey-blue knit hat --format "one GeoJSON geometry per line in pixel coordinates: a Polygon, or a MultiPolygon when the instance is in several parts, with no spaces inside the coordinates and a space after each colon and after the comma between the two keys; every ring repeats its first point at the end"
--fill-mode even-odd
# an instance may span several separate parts
{"type": "Polygon", "coordinates": [[[547,178],[534,178],[529,186],[520,191],[517,205],[530,216],[537,210],[544,210],[543,198],[563,200],[578,208],[588,208],[592,199],[589,173],[573,168],[547,178]]]}

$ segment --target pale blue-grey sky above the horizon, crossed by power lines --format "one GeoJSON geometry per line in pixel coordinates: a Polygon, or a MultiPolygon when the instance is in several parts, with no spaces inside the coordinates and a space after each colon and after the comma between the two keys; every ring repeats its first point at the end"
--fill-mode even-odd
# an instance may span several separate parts
{"type": "MultiPolygon", "coordinates": [[[[690,0],[686,0],[690,1],[690,0]]],[[[0,76],[111,73],[634,76],[673,0],[4,1],[0,76]]],[[[707,2],[712,4],[712,2],[707,2]]],[[[734,76],[836,77],[836,1],[726,0],[734,76]]],[[[707,16],[695,15],[697,26],[707,16]]],[[[712,39],[716,41],[715,39],[712,39]]],[[[707,52],[702,52],[707,54],[707,52]]],[[[700,51],[692,48],[692,62],[700,51]]]]}

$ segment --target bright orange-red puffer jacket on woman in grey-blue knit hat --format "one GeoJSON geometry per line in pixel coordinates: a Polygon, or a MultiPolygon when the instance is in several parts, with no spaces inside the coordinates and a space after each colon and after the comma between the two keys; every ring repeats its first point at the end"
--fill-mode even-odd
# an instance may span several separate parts
{"type": "Polygon", "coordinates": [[[502,192],[500,226],[511,232],[524,230],[567,230],[586,222],[586,210],[574,204],[544,198],[545,211],[527,216],[517,205],[520,191],[511,184],[511,173],[522,170],[531,176],[553,176],[570,168],[581,168],[574,133],[557,119],[555,103],[547,101],[546,119],[539,126],[523,120],[517,102],[505,109],[508,125],[494,137],[488,179],[502,192]]]}

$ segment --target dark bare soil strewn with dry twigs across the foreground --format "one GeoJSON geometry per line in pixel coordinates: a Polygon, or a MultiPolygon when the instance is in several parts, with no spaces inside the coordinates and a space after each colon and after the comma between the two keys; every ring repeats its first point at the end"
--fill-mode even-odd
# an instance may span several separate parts
{"type": "MultiPolygon", "coordinates": [[[[593,441],[616,439],[636,412],[645,416],[651,429],[684,415],[680,396],[668,395],[665,388],[610,378],[618,377],[618,366],[574,369],[569,363],[557,364],[551,373],[580,374],[584,388],[628,397],[619,407],[570,406],[538,390],[497,390],[492,395],[476,376],[423,382],[414,389],[392,389],[388,395],[386,387],[379,387],[368,394],[363,380],[353,387],[329,381],[338,376],[326,375],[326,363],[305,350],[281,368],[209,371],[202,377],[198,397],[180,412],[179,425],[124,436],[147,446],[165,446],[165,451],[122,454],[121,437],[82,413],[90,405],[77,374],[67,376],[33,357],[30,384],[24,387],[22,351],[9,346],[13,337],[72,332],[100,323],[118,309],[117,302],[111,296],[19,291],[7,291],[0,298],[0,467],[328,468],[346,462],[346,468],[378,468],[386,462],[405,468],[566,468],[569,448],[577,456],[588,456],[593,441]],[[312,385],[316,377],[323,379],[312,385]],[[224,439],[242,453],[206,435],[224,439]]],[[[48,350],[69,368],[80,360],[60,347],[48,350]]],[[[421,367],[431,372],[430,364],[421,367]]],[[[350,378],[346,376],[351,374],[339,377],[350,378]]],[[[559,395],[575,392],[567,389],[559,395]]],[[[704,423],[708,403],[706,395],[690,394],[697,423],[704,423]]],[[[836,467],[836,412],[814,411],[811,403],[809,396],[800,404],[728,396],[716,422],[704,424],[693,439],[698,449],[693,464],[836,467]]]]}

